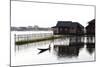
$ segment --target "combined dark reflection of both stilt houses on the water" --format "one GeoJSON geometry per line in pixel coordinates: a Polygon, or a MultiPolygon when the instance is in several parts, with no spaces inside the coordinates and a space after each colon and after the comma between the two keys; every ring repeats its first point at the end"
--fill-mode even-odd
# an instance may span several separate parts
{"type": "Polygon", "coordinates": [[[95,50],[95,37],[71,36],[67,38],[69,38],[69,45],[54,44],[54,51],[58,57],[77,57],[81,48],[85,48],[85,45],[90,54],[95,50]],[[84,41],[85,38],[87,38],[86,42],[84,41]]]}

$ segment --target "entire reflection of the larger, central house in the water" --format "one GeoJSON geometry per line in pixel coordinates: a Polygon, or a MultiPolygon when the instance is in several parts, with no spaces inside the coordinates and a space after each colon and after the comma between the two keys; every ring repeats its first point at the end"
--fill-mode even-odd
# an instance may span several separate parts
{"type": "Polygon", "coordinates": [[[59,57],[77,57],[81,48],[84,48],[83,37],[69,37],[69,44],[54,44],[55,54],[59,57]]]}

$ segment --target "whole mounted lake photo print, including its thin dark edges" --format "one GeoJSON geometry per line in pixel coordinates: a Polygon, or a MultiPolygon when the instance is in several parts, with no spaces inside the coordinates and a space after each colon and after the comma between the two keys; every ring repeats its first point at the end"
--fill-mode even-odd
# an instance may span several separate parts
{"type": "Polygon", "coordinates": [[[96,61],[95,22],[95,5],[10,0],[10,66],[96,61]]]}

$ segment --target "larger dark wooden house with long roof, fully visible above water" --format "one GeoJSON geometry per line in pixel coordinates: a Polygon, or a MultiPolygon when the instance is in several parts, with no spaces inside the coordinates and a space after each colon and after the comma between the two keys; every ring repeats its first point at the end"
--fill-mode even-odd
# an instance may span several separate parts
{"type": "Polygon", "coordinates": [[[78,22],[72,21],[58,21],[57,25],[52,27],[54,34],[83,34],[84,27],[78,22]]]}

